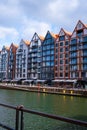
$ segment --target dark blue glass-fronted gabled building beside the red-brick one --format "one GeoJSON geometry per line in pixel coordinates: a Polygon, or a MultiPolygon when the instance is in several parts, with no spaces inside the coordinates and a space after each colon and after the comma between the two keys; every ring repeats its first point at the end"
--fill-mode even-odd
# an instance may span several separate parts
{"type": "Polygon", "coordinates": [[[57,35],[47,32],[42,43],[42,80],[54,79],[54,44],[57,35]]]}

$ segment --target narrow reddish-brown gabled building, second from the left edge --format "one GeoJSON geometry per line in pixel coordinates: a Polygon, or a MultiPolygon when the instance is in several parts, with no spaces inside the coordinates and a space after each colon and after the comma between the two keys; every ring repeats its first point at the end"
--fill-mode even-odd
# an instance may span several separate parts
{"type": "Polygon", "coordinates": [[[15,70],[16,70],[16,50],[18,46],[11,44],[9,48],[8,56],[8,79],[15,79],[15,70]]]}

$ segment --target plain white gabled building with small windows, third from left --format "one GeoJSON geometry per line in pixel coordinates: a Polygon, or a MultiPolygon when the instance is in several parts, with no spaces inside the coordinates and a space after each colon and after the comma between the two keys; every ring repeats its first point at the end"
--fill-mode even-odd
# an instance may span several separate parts
{"type": "Polygon", "coordinates": [[[16,74],[15,79],[27,79],[27,56],[29,41],[20,41],[16,51],[16,74]]]}

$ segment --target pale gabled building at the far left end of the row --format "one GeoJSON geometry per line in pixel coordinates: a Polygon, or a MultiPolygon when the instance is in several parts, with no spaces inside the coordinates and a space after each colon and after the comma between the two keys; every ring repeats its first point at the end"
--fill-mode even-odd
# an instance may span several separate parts
{"type": "Polygon", "coordinates": [[[7,79],[8,78],[8,55],[9,55],[9,47],[3,46],[1,50],[1,79],[7,79]]]}

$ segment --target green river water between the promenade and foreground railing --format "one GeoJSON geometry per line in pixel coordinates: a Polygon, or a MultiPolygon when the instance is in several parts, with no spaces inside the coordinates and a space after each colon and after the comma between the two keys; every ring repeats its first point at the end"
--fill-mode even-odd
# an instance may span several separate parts
{"type": "MultiPolygon", "coordinates": [[[[0,89],[0,103],[87,121],[87,98],[0,89]]],[[[15,112],[0,107],[0,122],[14,127],[15,112]]],[[[0,128],[0,130],[3,130],[0,128]]],[[[24,130],[87,130],[87,128],[24,114],[24,130]]]]}

